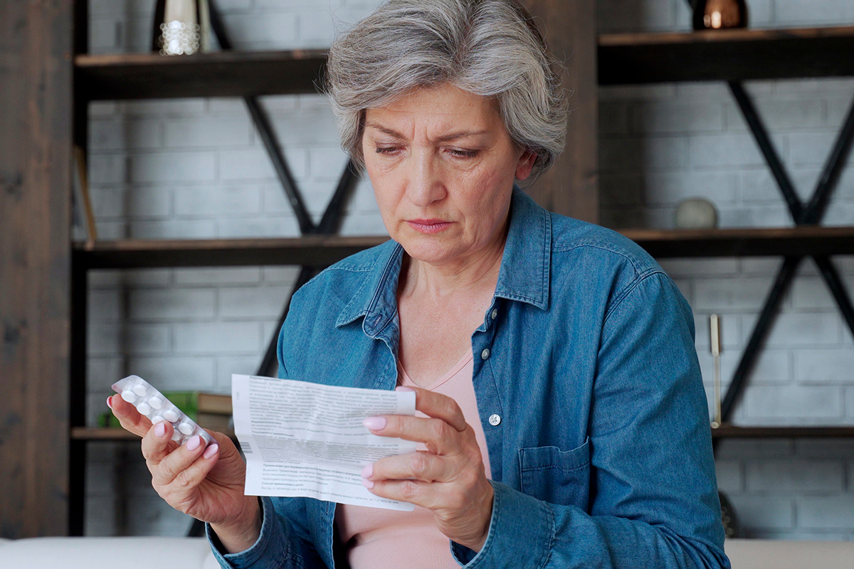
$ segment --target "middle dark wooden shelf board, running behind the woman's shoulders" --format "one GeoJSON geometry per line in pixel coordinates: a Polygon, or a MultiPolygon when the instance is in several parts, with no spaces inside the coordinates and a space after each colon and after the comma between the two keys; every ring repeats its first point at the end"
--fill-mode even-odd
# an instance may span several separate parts
{"type": "MultiPolygon", "coordinates": [[[[623,229],[657,258],[854,254],[854,227],[623,229]]],[[[386,236],[287,239],[124,240],[76,243],[85,269],[297,264],[323,267],[388,241],[386,236]]]]}

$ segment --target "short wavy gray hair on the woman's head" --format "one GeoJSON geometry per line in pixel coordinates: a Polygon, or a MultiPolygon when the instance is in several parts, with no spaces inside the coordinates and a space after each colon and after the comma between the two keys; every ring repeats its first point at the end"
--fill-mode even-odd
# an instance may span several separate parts
{"type": "Polygon", "coordinates": [[[453,84],[498,102],[512,141],[535,154],[532,180],[564,148],[560,71],[518,0],[390,0],[336,38],[326,66],[342,148],[358,165],[367,108],[453,84]]]}

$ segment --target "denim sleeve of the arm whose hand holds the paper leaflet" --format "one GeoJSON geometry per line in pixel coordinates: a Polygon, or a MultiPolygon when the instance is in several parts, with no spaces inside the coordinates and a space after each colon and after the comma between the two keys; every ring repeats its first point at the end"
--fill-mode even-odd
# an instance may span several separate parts
{"type": "Polygon", "coordinates": [[[588,510],[493,482],[483,549],[452,543],[454,558],[472,569],[728,569],[693,334],[668,276],[654,270],[631,282],[602,325],[588,510]]]}

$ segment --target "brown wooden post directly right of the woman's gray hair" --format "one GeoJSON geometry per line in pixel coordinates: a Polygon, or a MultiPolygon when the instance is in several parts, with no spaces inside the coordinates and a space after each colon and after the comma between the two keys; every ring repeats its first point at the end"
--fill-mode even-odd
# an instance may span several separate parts
{"type": "Polygon", "coordinates": [[[570,96],[566,149],[529,193],[541,206],[599,222],[599,83],[594,0],[526,0],[554,55],[564,62],[570,96]]]}

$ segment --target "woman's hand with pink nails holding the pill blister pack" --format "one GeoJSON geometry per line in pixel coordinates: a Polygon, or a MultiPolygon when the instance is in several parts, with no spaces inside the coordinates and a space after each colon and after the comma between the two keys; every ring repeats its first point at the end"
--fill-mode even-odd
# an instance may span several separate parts
{"type": "Polygon", "coordinates": [[[215,442],[202,438],[178,446],[167,421],[152,425],[148,417],[120,397],[108,398],[121,426],[143,438],[143,456],[151,485],[166,502],[184,514],[210,523],[225,549],[249,549],[260,536],[258,498],[245,496],[246,463],[237,447],[222,433],[208,431],[215,442]]]}

